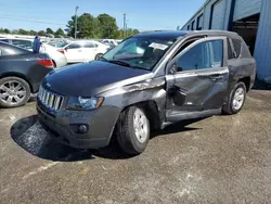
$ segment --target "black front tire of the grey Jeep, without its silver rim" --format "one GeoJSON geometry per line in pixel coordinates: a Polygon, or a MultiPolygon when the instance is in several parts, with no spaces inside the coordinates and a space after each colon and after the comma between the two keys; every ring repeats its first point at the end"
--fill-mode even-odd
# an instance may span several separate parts
{"type": "Polygon", "coordinates": [[[122,151],[129,155],[139,155],[144,152],[150,140],[150,122],[142,107],[130,106],[125,110],[120,115],[117,131],[117,141],[122,151]],[[136,136],[133,116],[137,110],[140,110],[140,112],[143,113],[146,118],[145,125],[147,128],[147,136],[144,142],[140,142],[136,136]]]}

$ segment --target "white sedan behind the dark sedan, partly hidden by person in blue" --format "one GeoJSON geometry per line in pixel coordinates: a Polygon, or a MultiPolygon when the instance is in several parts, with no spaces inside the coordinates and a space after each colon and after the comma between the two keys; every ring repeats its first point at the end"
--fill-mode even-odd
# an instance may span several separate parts
{"type": "MultiPolygon", "coordinates": [[[[0,41],[4,41],[10,44],[17,46],[20,48],[24,48],[29,51],[33,51],[34,40],[31,39],[3,38],[3,39],[0,39],[0,41]]],[[[57,48],[54,48],[47,43],[42,43],[40,48],[40,52],[47,53],[52,59],[54,67],[62,67],[67,64],[67,60],[64,53],[60,52],[57,48]]]]}

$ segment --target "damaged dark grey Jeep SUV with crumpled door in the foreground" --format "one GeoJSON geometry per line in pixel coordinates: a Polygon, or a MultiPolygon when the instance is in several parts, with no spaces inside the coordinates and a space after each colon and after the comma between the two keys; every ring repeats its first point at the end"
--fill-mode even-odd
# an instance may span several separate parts
{"type": "Polygon", "coordinates": [[[137,155],[151,129],[238,113],[255,76],[256,62],[235,33],[146,33],[99,61],[50,73],[37,110],[41,124],[65,144],[98,149],[114,136],[137,155]]]}

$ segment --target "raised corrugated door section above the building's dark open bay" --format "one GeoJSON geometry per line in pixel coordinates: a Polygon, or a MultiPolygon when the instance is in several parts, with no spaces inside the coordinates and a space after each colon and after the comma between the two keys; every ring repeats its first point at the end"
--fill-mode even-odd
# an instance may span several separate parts
{"type": "MultiPolygon", "coordinates": [[[[270,1],[270,0],[269,0],[270,1]]],[[[236,0],[233,21],[242,20],[260,12],[261,0],[236,0]]]]}

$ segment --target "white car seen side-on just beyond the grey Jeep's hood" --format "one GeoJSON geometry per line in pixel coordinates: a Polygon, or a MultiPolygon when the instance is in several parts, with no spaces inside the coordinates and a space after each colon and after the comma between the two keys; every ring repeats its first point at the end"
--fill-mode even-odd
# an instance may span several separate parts
{"type": "Polygon", "coordinates": [[[83,40],[74,41],[65,46],[63,49],[67,63],[77,63],[99,59],[107,52],[108,47],[94,40],[83,40]]]}

